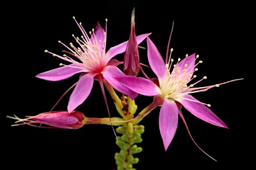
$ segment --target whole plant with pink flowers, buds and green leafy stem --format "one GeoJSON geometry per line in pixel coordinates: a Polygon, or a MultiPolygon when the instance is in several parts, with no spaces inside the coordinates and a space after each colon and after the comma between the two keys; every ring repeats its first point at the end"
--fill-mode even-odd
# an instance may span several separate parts
{"type": "MultiPolygon", "coordinates": [[[[67,48],[67,50],[63,50],[63,52],[65,52],[63,56],[45,50],[45,52],[61,58],[63,63],[60,64],[59,68],[42,72],[36,76],[43,80],[59,81],[67,79],[77,73],[81,74],[79,80],[75,82],[55,104],[56,106],[65,94],[75,87],[69,97],[67,110],[53,111],[55,108],[55,106],[53,106],[48,112],[38,114],[37,116],[27,116],[27,118],[24,119],[17,116],[7,116],[7,118],[16,120],[15,124],[12,126],[29,125],[37,128],[61,129],[79,129],[87,124],[112,126],[114,133],[117,132],[118,134],[116,135],[115,133],[116,144],[120,148],[120,151],[114,155],[117,170],[135,169],[133,165],[139,162],[139,158],[135,157],[135,154],[142,151],[138,143],[143,141],[141,135],[145,131],[145,127],[141,124],[141,121],[157,108],[157,106],[161,106],[159,112],[159,130],[165,151],[167,151],[167,148],[173,140],[179,117],[185,124],[185,128],[192,141],[195,143],[181,112],[182,106],[191,114],[209,124],[221,128],[228,128],[227,125],[209,109],[209,107],[211,107],[210,104],[200,102],[192,95],[197,92],[205,92],[211,88],[219,87],[229,82],[242,80],[242,78],[210,86],[197,86],[199,82],[207,79],[207,77],[204,76],[197,80],[197,76],[195,75],[195,72],[198,70],[197,65],[203,62],[202,60],[198,61],[199,55],[195,53],[187,54],[185,58],[177,58],[177,62],[175,62],[175,59],[171,58],[173,48],[169,50],[170,35],[167,45],[167,51],[170,51],[170,54],[167,52],[165,60],[163,60],[157,46],[149,38],[151,33],[139,36],[135,35],[134,9],[131,15],[131,33],[128,41],[113,46],[109,48],[109,50],[106,50],[107,19],[105,20],[105,29],[97,23],[95,29],[89,31],[89,34],[83,29],[81,23],[77,22],[75,17],[73,17],[73,19],[82,33],[81,37],[72,35],[79,47],[73,43],[70,43],[69,47],[59,41],[60,44],[67,48]],[[141,65],[145,64],[139,62],[138,45],[145,39],[147,40],[149,68],[151,68],[157,78],[149,78],[143,68],[141,68],[141,65]],[[122,53],[124,53],[123,61],[113,58],[117,54],[122,53]],[[123,71],[117,67],[120,64],[123,64],[123,71]],[[140,71],[145,78],[138,76],[140,71]],[[75,110],[77,106],[86,102],[93,88],[94,80],[97,80],[101,86],[101,92],[103,93],[107,107],[107,118],[88,118],[82,112],[75,110]],[[111,95],[119,117],[111,117],[105,89],[107,89],[107,92],[111,95]],[[117,92],[121,93],[121,96],[119,96],[117,92]],[[147,96],[147,98],[153,97],[153,102],[139,112],[137,112],[137,105],[135,104],[135,98],[138,94],[147,96]]],[[[171,34],[172,32],[173,30],[171,34]]],[[[195,145],[199,147],[197,143],[195,143],[195,145]]],[[[199,147],[199,149],[201,148],[199,147]]],[[[203,151],[203,149],[201,149],[201,151],[203,151]]],[[[205,151],[203,151],[203,153],[205,153],[205,151]]],[[[205,154],[208,155],[207,153],[205,154]]],[[[213,157],[211,158],[213,159],[213,157]]]]}

